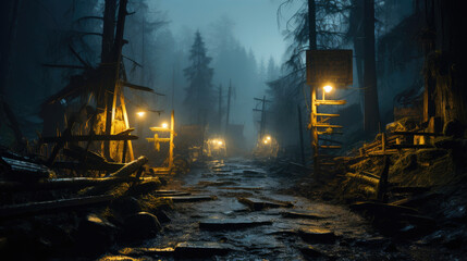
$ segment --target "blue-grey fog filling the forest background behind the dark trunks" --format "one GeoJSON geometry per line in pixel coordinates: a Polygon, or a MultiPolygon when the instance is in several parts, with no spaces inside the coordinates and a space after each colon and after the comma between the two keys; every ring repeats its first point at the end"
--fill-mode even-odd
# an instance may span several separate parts
{"type": "MultiPolygon", "coordinates": [[[[13,27],[9,25],[12,24],[11,11],[15,1],[8,1],[2,10],[2,34],[11,39],[1,44],[2,80],[7,83],[1,92],[17,115],[24,136],[34,139],[37,133],[51,135],[57,127],[63,129],[66,119],[60,113],[77,110],[84,103],[94,104],[97,99],[85,95],[95,94],[90,87],[71,96],[64,88],[76,79],[88,79],[90,75],[70,65],[79,67],[85,63],[91,69],[101,65],[103,25],[99,16],[102,16],[105,1],[19,2],[13,27]],[[9,35],[9,32],[14,34],[9,35]],[[46,124],[44,115],[48,113],[44,111],[45,107],[53,102],[60,103],[63,111],[52,109],[57,119],[52,124],[46,124]]],[[[328,110],[334,113],[351,108],[346,111],[352,112],[351,117],[341,122],[355,133],[361,129],[364,119],[364,91],[358,75],[360,54],[355,49],[356,39],[361,39],[355,33],[359,28],[359,17],[352,21],[357,15],[353,13],[355,1],[317,2],[318,48],[355,51],[354,84],[330,96],[347,99],[347,105],[328,110]]],[[[226,129],[231,87],[229,124],[243,126],[243,147],[251,148],[256,144],[260,113],[254,109],[261,104],[254,98],[263,97],[271,100],[266,105],[267,132],[284,147],[296,146],[297,105],[302,110],[303,128],[309,119],[309,88],[304,85],[304,51],[309,48],[308,35],[303,33],[307,32],[304,22],[306,3],[303,0],[128,1],[131,14],[124,26],[122,61],[125,75],[122,76],[131,84],[155,91],[123,89],[130,125],[136,127],[139,136],[150,137],[149,127],[168,121],[170,111],[174,110],[177,126],[204,125],[209,135],[222,135],[226,129]],[[204,60],[199,77],[192,72],[198,59],[193,58],[197,34],[202,42],[198,47],[202,49],[204,60]],[[198,89],[196,94],[194,89],[198,89]],[[135,116],[138,110],[147,111],[145,120],[135,116]]],[[[393,120],[394,98],[398,94],[406,89],[418,94],[422,86],[420,49],[410,45],[410,35],[396,37],[396,25],[415,11],[410,1],[376,1],[381,115],[378,124],[381,126],[393,120]]],[[[4,124],[2,132],[2,144],[8,144],[13,134],[4,124]]],[[[308,137],[306,134],[305,145],[309,147],[308,137]]]]}

